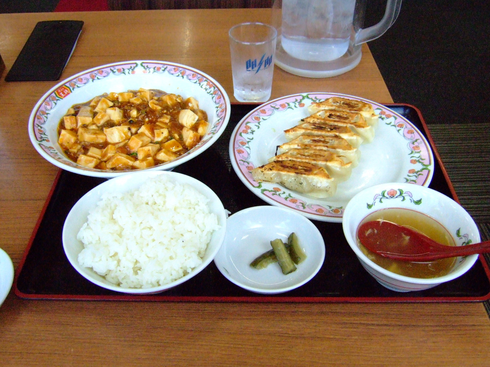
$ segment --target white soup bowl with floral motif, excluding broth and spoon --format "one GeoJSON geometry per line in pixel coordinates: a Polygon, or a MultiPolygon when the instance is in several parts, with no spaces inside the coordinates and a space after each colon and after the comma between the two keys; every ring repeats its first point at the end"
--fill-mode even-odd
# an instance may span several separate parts
{"type": "Polygon", "coordinates": [[[399,275],[377,265],[359,247],[357,229],[368,215],[388,208],[412,210],[431,217],[447,231],[456,246],[480,242],[478,228],[467,211],[439,191],[407,183],[368,187],[355,195],[345,207],[343,232],[361,265],[386,288],[398,292],[429,289],[465,274],[478,259],[478,254],[457,257],[446,275],[433,278],[399,275]]]}

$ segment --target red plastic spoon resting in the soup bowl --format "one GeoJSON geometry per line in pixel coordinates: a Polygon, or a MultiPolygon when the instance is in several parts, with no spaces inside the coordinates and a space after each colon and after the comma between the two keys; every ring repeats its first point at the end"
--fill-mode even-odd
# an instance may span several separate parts
{"type": "Polygon", "coordinates": [[[413,229],[382,220],[363,223],[357,236],[368,250],[393,260],[431,261],[490,252],[490,241],[446,246],[413,229]]]}

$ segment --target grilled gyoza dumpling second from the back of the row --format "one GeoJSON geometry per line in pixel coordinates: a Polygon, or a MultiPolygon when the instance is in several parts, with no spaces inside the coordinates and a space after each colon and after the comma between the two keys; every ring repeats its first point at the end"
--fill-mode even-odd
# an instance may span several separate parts
{"type": "Polygon", "coordinates": [[[321,110],[303,118],[301,121],[346,126],[354,133],[360,135],[365,142],[370,143],[374,139],[374,128],[369,126],[364,117],[357,113],[353,114],[342,110],[321,110]]]}

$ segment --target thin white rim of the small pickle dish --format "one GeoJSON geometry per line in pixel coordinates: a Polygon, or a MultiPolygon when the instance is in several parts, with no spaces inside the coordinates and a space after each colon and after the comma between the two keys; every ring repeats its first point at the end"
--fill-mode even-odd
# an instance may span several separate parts
{"type": "MultiPolygon", "coordinates": [[[[310,275],[308,275],[307,277],[305,277],[303,280],[295,283],[294,285],[290,285],[290,286],[283,287],[283,288],[275,288],[275,289],[264,289],[264,288],[257,288],[257,287],[247,286],[246,284],[243,284],[239,280],[235,279],[234,277],[228,275],[225,271],[223,271],[221,269],[221,266],[219,266],[219,264],[216,264],[216,260],[215,260],[216,267],[221,272],[221,274],[225,278],[227,278],[230,282],[232,282],[233,284],[235,284],[235,285],[237,285],[237,286],[239,286],[239,287],[241,287],[241,288],[243,288],[243,289],[245,289],[247,291],[254,292],[254,293],[259,293],[259,294],[265,294],[265,295],[273,295],[273,294],[279,294],[279,293],[289,292],[289,291],[292,291],[292,290],[294,290],[296,288],[299,288],[300,286],[306,284],[311,279],[313,279],[313,277],[315,277],[315,275],[318,274],[319,270],[323,266],[323,263],[324,263],[324,260],[325,260],[325,253],[326,253],[326,250],[325,250],[325,242],[324,242],[323,236],[321,235],[321,233],[320,233],[319,229],[317,228],[317,226],[315,226],[315,224],[310,219],[306,218],[304,215],[301,215],[301,214],[293,211],[292,209],[288,209],[286,207],[280,207],[280,206],[270,206],[270,205],[247,207],[245,209],[242,209],[242,210],[237,211],[237,212],[233,213],[232,215],[230,215],[228,217],[227,221],[230,218],[232,218],[232,220],[233,220],[234,218],[237,218],[237,217],[240,217],[240,216],[243,216],[243,215],[249,215],[250,212],[254,212],[254,211],[257,211],[257,210],[268,210],[268,211],[271,211],[271,212],[280,211],[280,212],[283,212],[283,213],[285,213],[287,215],[290,215],[290,216],[292,216],[294,218],[297,218],[299,221],[301,221],[301,222],[303,222],[305,224],[308,224],[309,226],[311,225],[312,226],[312,230],[315,232],[315,235],[318,236],[319,239],[320,239],[319,245],[320,245],[321,256],[319,258],[319,264],[318,264],[318,266],[313,269],[313,271],[312,271],[312,273],[310,275]]],[[[223,246],[225,246],[225,244],[223,244],[223,246]]]]}

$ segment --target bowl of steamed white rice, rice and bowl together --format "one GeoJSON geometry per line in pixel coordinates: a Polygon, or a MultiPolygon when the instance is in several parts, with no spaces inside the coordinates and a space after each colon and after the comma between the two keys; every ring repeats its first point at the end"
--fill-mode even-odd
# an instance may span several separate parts
{"type": "Polygon", "coordinates": [[[73,206],[63,248],[75,270],[113,291],[159,293],[202,271],[220,250],[226,212],[198,180],[140,171],[108,180],[73,206]]]}

